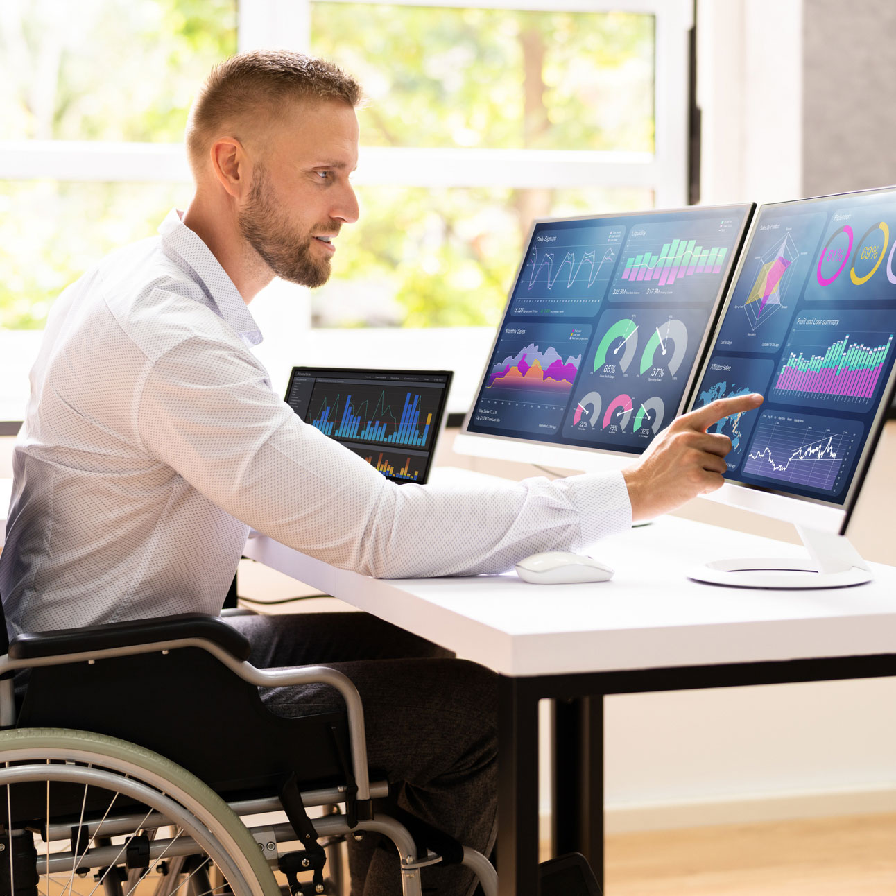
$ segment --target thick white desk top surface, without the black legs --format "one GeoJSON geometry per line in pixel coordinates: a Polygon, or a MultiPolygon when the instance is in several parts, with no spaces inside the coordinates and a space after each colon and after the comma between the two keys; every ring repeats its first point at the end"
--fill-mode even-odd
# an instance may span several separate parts
{"type": "Polygon", "coordinates": [[[693,582],[712,559],[804,556],[801,547],[666,517],[595,546],[611,582],[532,585],[514,573],[374,580],[250,539],[271,565],[459,655],[512,676],[806,659],[896,650],[896,568],[831,590],[693,582]]]}

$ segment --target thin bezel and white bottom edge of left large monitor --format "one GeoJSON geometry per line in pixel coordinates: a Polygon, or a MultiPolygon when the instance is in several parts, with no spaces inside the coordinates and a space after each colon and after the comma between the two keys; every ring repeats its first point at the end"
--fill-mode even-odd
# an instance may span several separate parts
{"type": "MultiPolygon", "coordinates": [[[[532,225],[529,228],[529,232],[526,235],[524,248],[521,253],[520,263],[517,265],[516,273],[513,275],[513,280],[511,282],[510,289],[507,292],[507,301],[504,303],[504,308],[501,312],[501,318],[498,322],[498,325],[495,327],[495,338],[492,340],[492,344],[490,349],[488,349],[488,354],[486,356],[485,364],[482,368],[482,373],[478,378],[478,385],[476,389],[476,394],[473,397],[473,401],[470,404],[470,409],[464,415],[463,424],[461,425],[461,431],[458,434],[458,439],[455,440],[455,450],[458,448],[461,449],[461,452],[467,452],[470,454],[481,455],[484,457],[497,457],[499,456],[499,449],[496,447],[492,449],[491,446],[487,447],[486,442],[481,443],[482,449],[481,451],[477,450],[476,445],[478,444],[479,439],[488,440],[491,442],[498,442],[504,444],[513,444],[513,445],[527,445],[531,446],[533,449],[532,457],[534,463],[552,463],[556,466],[564,467],[568,470],[581,470],[582,467],[586,469],[590,466],[587,461],[582,461],[583,458],[587,458],[589,455],[595,458],[601,458],[601,461],[597,461],[600,466],[607,467],[620,467],[625,465],[626,463],[630,463],[633,460],[642,456],[643,452],[636,451],[626,451],[623,449],[616,450],[613,448],[597,448],[587,444],[569,444],[563,442],[547,442],[539,439],[526,439],[521,438],[516,435],[500,435],[497,433],[480,433],[475,431],[470,431],[470,420],[473,417],[473,412],[476,410],[476,406],[479,401],[479,396],[482,392],[482,383],[485,381],[486,375],[488,373],[488,368],[492,362],[492,358],[495,354],[495,349],[497,348],[498,340],[501,338],[501,329],[504,325],[504,319],[507,314],[507,309],[509,308],[511,302],[513,301],[513,293],[516,290],[517,284],[520,280],[520,274],[523,269],[523,266],[526,263],[526,258],[529,255],[530,244],[532,241],[532,235],[535,233],[535,228],[540,224],[555,224],[555,223],[566,223],[573,221],[606,221],[606,220],[619,220],[626,218],[644,218],[644,217],[652,217],[657,215],[676,215],[676,214],[686,214],[693,211],[705,211],[708,213],[712,212],[725,212],[725,211],[744,211],[744,220],[741,222],[740,229],[737,233],[737,237],[735,238],[734,245],[732,246],[731,258],[737,259],[743,249],[745,244],[746,236],[751,228],[753,219],[755,217],[756,212],[756,203],[755,202],[728,202],[722,205],[685,205],[679,208],[672,209],[648,209],[646,211],[617,211],[617,212],[607,212],[607,214],[601,215],[573,215],[573,216],[563,216],[558,218],[548,217],[548,218],[536,218],[532,221],[532,225]],[[469,437],[475,437],[474,441],[470,442],[469,437]],[[459,440],[459,441],[458,441],[459,440]],[[577,462],[576,459],[579,459],[577,462]],[[605,460],[606,459],[606,460],[605,460]],[[613,461],[612,459],[616,459],[613,461]]],[[[682,392],[681,401],[679,401],[678,406],[676,408],[676,412],[674,417],[677,417],[688,401],[688,397],[694,389],[694,372],[702,363],[703,353],[706,351],[709,340],[712,334],[715,332],[716,324],[719,320],[719,312],[721,310],[722,301],[725,296],[728,295],[728,288],[731,284],[732,277],[734,275],[735,268],[737,267],[737,263],[730,263],[730,267],[728,269],[728,274],[724,278],[724,280],[719,284],[719,291],[716,294],[715,299],[713,300],[711,312],[709,319],[707,320],[706,327],[703,331],[702,340],[700,345],[697,347],[697,353],[694,356],[695,361],[694,365],[691,368],[691,372],[688,377],[688,381],[685,383],[685,389],[682,392]]],[[[602,309],[601,309],[602,310],[602,309]]],[[[651,440],[652,441],[652,440],[651,440]]],[[[650,444],[650,443],[648,443],[650,444]]],[[[645,448],[647,446],[645,445],[645,448]]],[[[515,459],[514,459],[515,460],[515,459]]],[[[526,462],[526,461],[523,461],[526,462]]]]}

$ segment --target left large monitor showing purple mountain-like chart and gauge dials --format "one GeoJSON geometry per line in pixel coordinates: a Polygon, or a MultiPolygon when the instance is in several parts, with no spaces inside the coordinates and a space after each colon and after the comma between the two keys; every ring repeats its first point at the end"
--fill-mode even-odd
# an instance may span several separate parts
{"type": "Polygon", "coordinates": [[[753,211],[537,220],[454,450],[631,462],[685,401],[753,211]]]}

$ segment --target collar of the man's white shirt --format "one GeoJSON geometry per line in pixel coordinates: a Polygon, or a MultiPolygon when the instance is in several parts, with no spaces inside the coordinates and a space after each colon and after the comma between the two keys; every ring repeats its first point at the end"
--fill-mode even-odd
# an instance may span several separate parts
{"type": "Polygon", "coordinates": [[[180,216],[180,211],[172,209],[159,225],[162,249],[169,257],[176,256],[176,260],[186,264],[224,322],[239,334],[246,345],[258,345],[263,339],[262,332],[233,280],[230,280],[211,249],[185,225],[180,216]]]}

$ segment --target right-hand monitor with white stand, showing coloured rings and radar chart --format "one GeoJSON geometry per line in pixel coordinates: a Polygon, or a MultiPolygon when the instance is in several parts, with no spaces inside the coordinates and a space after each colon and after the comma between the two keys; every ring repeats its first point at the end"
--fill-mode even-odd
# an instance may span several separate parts
{"type": "Polygon", "coordinates": [[[896,188],[758,211],[691,405],[762,392],[760,409],[711,427],[733,447],[728,482],[708,497],[796,523],[812,562],[719,561],[695,578],[812,588],[869,578],[843,533],[892,401],[894,251],[896,188]],[[806,574],[774,572],[796,567],[806,574]]]}

